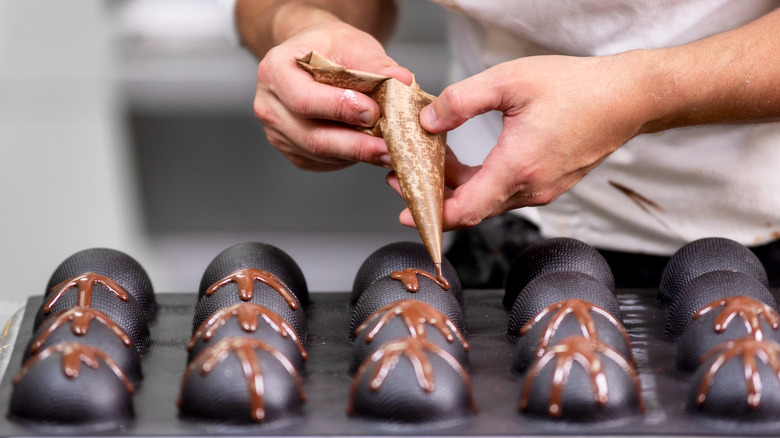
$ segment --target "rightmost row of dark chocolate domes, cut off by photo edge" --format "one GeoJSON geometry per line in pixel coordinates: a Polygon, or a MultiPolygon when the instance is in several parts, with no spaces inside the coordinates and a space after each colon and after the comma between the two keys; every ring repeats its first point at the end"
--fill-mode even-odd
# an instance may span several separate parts
{"type": "Polygon", "coordinates": [[[658,301],[668,306],[689,412],[780,418],[780,316],[767,284],[759,259],[729,239],[693,241],[669,260],[658,301]]]}

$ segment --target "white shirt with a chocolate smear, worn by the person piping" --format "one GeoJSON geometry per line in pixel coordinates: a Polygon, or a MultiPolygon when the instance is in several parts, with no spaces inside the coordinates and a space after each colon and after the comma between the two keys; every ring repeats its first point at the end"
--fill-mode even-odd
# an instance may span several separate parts
{"type": "MultiPolygon", "coordinates": [[[[435,1],[454,11],[453,80],[521,56],[594,56],[684,44],[780,6],[775,0],[435,1]]],[[[476,164],[500,130],[500,114],[493,112],[450,133],[448,143],[462,161],[476,164]]],[[[668,255],[709,236],[746,245],[778,239],[780,124],[638,136],[550,205],[518,213],[545,236],[628,252],[668,255]],[[627,195],[632,191],[638,196],[627,195]]]]}

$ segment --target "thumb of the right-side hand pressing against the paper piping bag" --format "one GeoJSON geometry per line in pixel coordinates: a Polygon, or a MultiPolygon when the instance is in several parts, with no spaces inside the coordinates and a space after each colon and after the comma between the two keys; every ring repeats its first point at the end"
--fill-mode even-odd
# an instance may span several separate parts
{"type": "Polygon", "coordinates": [[[498,109],[501,93],[486,79],[484,74],[476,75],[445,88],[420,112],[423,128],[432,133],[450,131],[474,116],[498,109]]]}

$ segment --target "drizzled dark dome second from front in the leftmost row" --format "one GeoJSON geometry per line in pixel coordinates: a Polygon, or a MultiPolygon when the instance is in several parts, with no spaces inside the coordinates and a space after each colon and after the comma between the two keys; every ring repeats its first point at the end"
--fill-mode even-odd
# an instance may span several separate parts
{"type": "MultiPolygon", "coordinates": [[[[79,310],[74,309],[76,312],[79,310]]],[[[73,311],[60,314],[59,316],[67,317],[68,314],[73,314],[73,311]]],[[[33,354],[55,344],[87,344],[106,353],[108,357],[116,362],[130,382],[135,387],[138,387],[143,379],[141,358],[130,337],[124,332],[117,330],[121,329],[118,326],[104,324],[99,320],[93,319],[90,321],[86,333],[83,333],[83,329],[78,324],[74,324],[72,320],[67,318],[49,318],[35,331],[27,344],[23,354],[23,362],[29,360],[33,354]],[[53,324],[56,324],[56,326],[53,326],[53,324]]]]}

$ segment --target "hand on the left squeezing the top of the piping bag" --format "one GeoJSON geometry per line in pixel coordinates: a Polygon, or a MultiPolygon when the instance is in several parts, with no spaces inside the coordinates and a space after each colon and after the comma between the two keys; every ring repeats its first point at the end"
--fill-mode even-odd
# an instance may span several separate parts
{"type": "Polygon", "coordinates": [[[295,62],[311,51],[350,69],[412,82],[412,74],[370,34],[339,21],[308,27],[271,49],[257,70],[254,111],[270,143],[305,170],[337,170],[356,162],[390,167],[383,139],[347,126],[373,126],[379,118],[376,102],[315,82],[295,62]]]}

